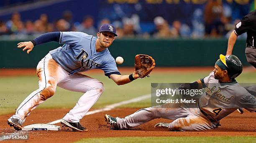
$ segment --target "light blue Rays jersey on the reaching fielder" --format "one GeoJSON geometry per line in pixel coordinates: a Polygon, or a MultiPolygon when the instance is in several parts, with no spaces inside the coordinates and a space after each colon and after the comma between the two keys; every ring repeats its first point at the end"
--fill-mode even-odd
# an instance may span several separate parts
{"type": "Polygon", "coordinates": [[[97,37],[82,32],[60,32],[59,43],[64,45],[49,53],[71,74],[94,68],[104,70],[106,76],[120,74],[108,48],[96,52],[96,40],[97,37]]]}

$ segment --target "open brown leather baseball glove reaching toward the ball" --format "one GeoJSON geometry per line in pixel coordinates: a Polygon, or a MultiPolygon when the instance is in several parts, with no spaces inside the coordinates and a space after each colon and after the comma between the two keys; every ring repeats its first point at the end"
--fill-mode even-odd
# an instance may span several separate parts
{"type": "Polygon", "coordinates": [[[136,55],[135,56],[135,70],[140,78],[149,77],[149,73],[155,68],[155,60],[149,55],[136,55]]]}

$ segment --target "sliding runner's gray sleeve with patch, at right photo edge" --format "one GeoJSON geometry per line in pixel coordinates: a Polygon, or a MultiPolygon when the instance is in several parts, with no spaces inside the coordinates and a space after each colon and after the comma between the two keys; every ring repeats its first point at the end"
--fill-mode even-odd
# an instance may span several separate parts
{"type": "Polygon", "coordinates": [[[256,98],[247,92],[240,100],[238,100],[238,107],[246,108],[246,110],[254,112],[256,110],[256,98]]]}

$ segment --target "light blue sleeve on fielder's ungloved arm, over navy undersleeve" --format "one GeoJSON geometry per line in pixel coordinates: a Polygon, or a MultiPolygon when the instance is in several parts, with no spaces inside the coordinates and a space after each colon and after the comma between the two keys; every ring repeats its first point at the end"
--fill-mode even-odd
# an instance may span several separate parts
{"type": "Polygon", "coordinates": [[[59,37],[60,44],[68,44],[68,45],[75,45],[78,43],[82,35],[85,33],[82,32],[61,32],[59,37]]]}

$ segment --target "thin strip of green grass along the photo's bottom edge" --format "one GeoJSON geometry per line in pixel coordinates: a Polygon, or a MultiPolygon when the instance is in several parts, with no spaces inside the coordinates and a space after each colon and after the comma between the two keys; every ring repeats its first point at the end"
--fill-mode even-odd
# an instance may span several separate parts
{"type": "Polygon", "coordinates": [[[256,137],[115,137],[84,138],[75,143],[256,143],[256,137]]]}

